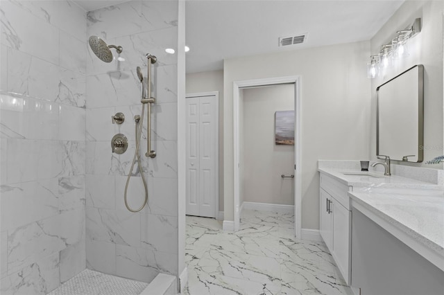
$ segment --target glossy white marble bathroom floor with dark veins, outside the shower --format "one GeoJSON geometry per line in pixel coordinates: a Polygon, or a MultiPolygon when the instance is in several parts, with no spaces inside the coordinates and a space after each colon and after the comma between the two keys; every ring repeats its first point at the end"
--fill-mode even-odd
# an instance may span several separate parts
{"type": "Polygon", "coordinates": [[[323,242],[294,238],[293,214],[243,211],[239,228],[187,216],[185,294],[352,294],[323,242]]]}

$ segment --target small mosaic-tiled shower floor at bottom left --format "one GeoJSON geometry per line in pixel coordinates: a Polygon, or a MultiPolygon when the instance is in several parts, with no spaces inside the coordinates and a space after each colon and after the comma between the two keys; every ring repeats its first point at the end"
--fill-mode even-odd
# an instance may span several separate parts
{"type": "Polygon", "coordinates": [[[147,283],[110,276],[85,269],[48,295],[122,295],[140,294],[147,283]]]}

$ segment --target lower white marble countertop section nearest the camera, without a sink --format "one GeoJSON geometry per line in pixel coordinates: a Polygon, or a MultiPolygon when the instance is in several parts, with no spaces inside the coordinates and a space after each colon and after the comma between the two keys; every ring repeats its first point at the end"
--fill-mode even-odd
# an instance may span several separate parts
{"type": "MultiPolygon", "coordinates": [[[[371,213],[406,233],[412,239],[411,242],[419,242],[426,249],[437,253],[441,260],[431,262],[441,269],[444,268],[442,190],[393,190],[392,193],[378,193],[377,189],[368,188],[361,192],[350,192],[348,195],[353,203],[364,206],[371,213]]],[[[411,247],[412,243],[408,240],[403,242],[411,247]]],[[[423,253],[420,252],[418,253],[423,253]]]]}

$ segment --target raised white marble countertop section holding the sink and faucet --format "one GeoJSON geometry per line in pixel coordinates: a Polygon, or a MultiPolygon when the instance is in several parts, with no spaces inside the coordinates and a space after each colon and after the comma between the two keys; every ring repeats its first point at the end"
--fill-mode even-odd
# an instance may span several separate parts
{"type": "Polygon", "coordinates": [[[384,176],[381,172],[368,172],[368,175],[345,175],[350,172],[361,172],[361,170],[347,169],[347,168],[318,168],[319,172],[324,172],[336,179],[337,181],[354,187],[368,187],[368,188],[416,188],[416,189],[431,189],[443,190],[443,186],[432,184],[425,181],[411,179],[407,177],[400,177],[398,175],[384,176]]]}

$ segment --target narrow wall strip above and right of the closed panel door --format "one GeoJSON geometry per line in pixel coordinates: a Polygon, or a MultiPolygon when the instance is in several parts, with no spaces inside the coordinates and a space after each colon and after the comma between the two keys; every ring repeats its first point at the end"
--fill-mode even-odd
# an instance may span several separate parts
{"type": "Polygon", "coordinates": [[[189,73],[187,93],[219,91],[219,211],[223,211],[223,71],[189,73]]]}

